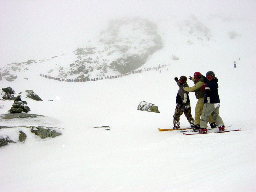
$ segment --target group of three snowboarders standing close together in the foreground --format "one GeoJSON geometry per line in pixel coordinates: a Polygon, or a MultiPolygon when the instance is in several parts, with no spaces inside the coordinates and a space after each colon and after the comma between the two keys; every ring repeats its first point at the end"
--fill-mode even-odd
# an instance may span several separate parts
{"type": "Polygon", "coordinates": [[[207,132],[207,123],[210,123],[211,129],[219,128],[219,131],[225,131],[225,125],[219,116],[220,100],[218,95],[218,79],[215,73],[208,71],[206,77],[200,72],[195,72],[189,79],[194,82],[193,87],[187,84],[187,77],[175,77],[179,90],[176,96],[176,108],[173,116],[173,128],[180,128],[180,116],[184,113],[191,128],[200,133],[207,132]],[[195,92],[197,104],[195,108],[195,119],[191,115],[191,106],[188,93],[195,92]]]}

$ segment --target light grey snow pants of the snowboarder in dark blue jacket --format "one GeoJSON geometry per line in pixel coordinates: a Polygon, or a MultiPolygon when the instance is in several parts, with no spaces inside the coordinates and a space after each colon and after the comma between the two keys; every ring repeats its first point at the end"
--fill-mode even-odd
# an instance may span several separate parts
{"type": "Polygon", "coordinates": [[[219,103],[205,103],[203,105],[203,111],[201,115],[200,127],[207,128],[207,123],[209,120],[209,115],[213,117],[213,120],[216,122],[217,126],[220,127],[221,125],[225,126],[223,120],[219,116],[219,103]]]}

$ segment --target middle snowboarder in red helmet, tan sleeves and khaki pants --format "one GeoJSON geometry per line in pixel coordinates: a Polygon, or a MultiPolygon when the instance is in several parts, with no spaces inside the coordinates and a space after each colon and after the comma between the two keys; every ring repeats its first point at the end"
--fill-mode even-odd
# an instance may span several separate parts
{"type": "MultiPolygon", "coordinates": [[[[205,93],[205,82],[207,81],[207,79],[200,72],[195,72],[194,77],[190,77],[189,79],[192,80],[195,85],[193,87],[184,87],[184,91],[195,92],[197,98],[197,104],[195,108],[195,123],[193,126],[193,129],[196,131],[200,130],[200,117],[203,110],[204,99],[203,95],[205,93]]],[[[214,122],[211,115],[209,115],[209,123],[212,129],[217,127],[216,122],[214,122]]]]}

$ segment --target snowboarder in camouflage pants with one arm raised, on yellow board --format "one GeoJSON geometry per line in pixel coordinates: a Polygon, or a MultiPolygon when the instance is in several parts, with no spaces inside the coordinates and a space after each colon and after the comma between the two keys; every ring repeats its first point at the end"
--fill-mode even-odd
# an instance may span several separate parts
{"type": "Polygon", "coordinates": [[[194,126],[194,119],[191,115],[191,107],[190,101],[188,97],[188,92],[184,91],[184,87],[188,87],[187,85],[187,77],[181,76],[180,79],[175,77],[174,80],[176,81],[177,85],[179,86],[179,90],[176,96],[176,108],[173,116],[173,128],[179,129],[180,128],[180,116],[184,113],[190,126],[194,126]]]}

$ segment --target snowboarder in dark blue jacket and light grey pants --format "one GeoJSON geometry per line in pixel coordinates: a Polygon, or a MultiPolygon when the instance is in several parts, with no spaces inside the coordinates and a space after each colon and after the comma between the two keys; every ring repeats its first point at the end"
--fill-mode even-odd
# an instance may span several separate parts
{"type": "Polygon", "coordinates": [[[225,125],[223,120],[219,116],[219,107],[220,100],[218,94],[218,79],[215,77],[215,73],[212,71],[208,71],[206,73],[207,77],[207,85],[205,87],[205,94],[203,100],[203,111],[201,115],[200,121],[200,133],[207,132],[207,123],[209,120],[209,115],[212,115],[213,120],[216,122],[219,131],[225,131],[225,125]]]}

